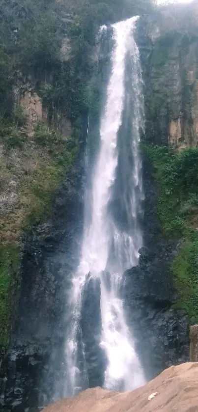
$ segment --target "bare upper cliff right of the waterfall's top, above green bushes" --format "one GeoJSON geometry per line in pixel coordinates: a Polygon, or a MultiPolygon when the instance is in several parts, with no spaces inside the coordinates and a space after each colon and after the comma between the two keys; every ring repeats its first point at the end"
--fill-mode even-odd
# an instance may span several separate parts
{"type": "Polygon", "coordinates": [[[197,146],[198,5],[167,6],[139,22],[146,139],[197,146]]]}

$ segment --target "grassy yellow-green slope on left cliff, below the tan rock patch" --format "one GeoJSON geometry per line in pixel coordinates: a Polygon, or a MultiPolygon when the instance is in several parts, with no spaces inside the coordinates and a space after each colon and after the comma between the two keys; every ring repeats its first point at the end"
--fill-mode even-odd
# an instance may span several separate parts
{"type": "MultiPolygon", "coordinates": [[[[14,146],[14,160],[13,157],[10,160],[6,150],[0,165],[4,179],[0,190],[4,191],[9,185],[13,174],[17,184],[12,189],[15,208],[11,206],[9,210],[7,207],[4,214],[2,212],[0,236],[3,244],[17,242],[22,229],[28,231],[49,216],[55,193],[74,164],[79,148],[78,136],[66,138],[42,122],[35,126],[33,144],[26,137],[22,151],[18,143],[17,140],[14,146]]],[[[5,139],[4,147],[7,149],[5,139]]]]}

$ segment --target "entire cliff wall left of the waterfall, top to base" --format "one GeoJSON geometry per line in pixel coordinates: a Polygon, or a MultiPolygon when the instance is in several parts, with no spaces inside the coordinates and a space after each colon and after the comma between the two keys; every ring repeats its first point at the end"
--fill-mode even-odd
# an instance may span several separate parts
{"type": "Polygon", "coordinates": [[[75,53],[69,54],[64,29],[70,16],[56,5],[51,9],[52,3],[47,11],[45,2],[38,8],[36,1],[0,4],[5,27],[0,32],[0,409],[5,411],[35,411],[51,399],[54,373],[61,373],[57,354],[64,350],[67,299],[60,290],[70,287],[65,273],[78,261],[82,233],[85,72],[75,53]]]}

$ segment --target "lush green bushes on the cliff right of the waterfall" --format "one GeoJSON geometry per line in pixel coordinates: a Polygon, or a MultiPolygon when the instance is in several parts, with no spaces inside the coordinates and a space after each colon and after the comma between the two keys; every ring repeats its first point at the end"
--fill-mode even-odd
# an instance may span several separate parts
{"type": "Polygon", "coordinates": [[[146,145],[159,186],[158,216],[167,236],[182,239],[172,264],[180,300],[192,323],[198,322],[198,148],[146,145]]]}

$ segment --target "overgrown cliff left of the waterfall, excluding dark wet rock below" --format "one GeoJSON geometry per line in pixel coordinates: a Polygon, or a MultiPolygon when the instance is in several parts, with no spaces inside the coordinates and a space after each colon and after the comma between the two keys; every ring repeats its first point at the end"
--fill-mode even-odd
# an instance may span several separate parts
{"type": "Polygon", "coordinates": [[[83,162],[89,52],[78,60],[74,28],[53,0],[0,4],[0,357],[14,328],[27,236],[37,237],[83,162]]]}

